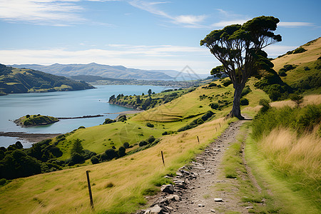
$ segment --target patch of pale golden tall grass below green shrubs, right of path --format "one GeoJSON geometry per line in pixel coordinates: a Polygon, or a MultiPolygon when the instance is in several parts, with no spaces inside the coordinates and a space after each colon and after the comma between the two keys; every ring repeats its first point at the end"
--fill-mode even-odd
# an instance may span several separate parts
{"type": "Polygon", "coordinates": [[[321,180],[321,138],[316,127],[297,138],[290,128],[275,128],[259,143],[275,168],[307,180],[321,180]]]}

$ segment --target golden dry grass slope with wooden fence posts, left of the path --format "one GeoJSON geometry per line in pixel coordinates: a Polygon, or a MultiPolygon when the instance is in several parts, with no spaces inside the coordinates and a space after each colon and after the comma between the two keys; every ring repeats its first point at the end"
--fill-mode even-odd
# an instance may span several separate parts
{"type": "Polygon", "coordinates": [[[144,203],[143,190],[190,161],[227,126],[228,121],[220,118],[165,136],[158,145],[115,161],[16,179],[1,190],[1,213],[90,213],[86,170],[91,170],[96,211],[131,213],[144,203]],[[114,186],[108,188],[109,183],[114,186]]]}

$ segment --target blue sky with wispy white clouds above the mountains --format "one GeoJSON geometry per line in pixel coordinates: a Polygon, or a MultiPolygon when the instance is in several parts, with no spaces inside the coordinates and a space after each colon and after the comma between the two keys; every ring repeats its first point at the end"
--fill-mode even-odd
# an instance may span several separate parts
{"type": "Polygon", "coordinates": [[[321,1],[0,0],[0,63],[101,63],[210,73],[210,31],[257,16],[280,19],[275,58],[321,36],[321,1]]]}

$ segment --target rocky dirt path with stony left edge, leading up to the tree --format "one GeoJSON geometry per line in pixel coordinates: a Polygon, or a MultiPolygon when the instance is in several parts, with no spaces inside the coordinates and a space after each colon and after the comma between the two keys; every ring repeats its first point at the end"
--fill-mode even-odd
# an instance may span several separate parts
{"type": "Polygon", "coordinates": [[[245,121],[231,123],[196,161],[180,168],[172,194],[161,193],[149,210],[141,213],[248,213],[238,194],[238,180],[222,176],[220,163],[230,143],[237,141],[240,126],[245,121]],[[217,187],[219,183],[219,188],[217,187]],[[228,189],[225,190],[225,186],[228,189]],[[230,188],[233,187],[233,188],[230,188]]]}

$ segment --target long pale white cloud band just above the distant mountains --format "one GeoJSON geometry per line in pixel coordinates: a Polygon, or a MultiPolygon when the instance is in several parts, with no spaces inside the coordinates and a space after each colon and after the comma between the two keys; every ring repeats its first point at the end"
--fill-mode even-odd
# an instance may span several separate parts
{"type": "Polygon", "coordinates": [[[215,59],[203,47],[190,46],[131,46],[110,44],[106,49],[85,49],[69,51],[66,49],[17,49],[0,50],[1,63],[102,63],[123,65],[128,68],[173,69],[180,71],[186,65],[197,73],[208,73],[215,59]]]}

